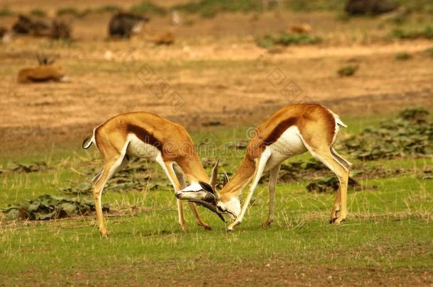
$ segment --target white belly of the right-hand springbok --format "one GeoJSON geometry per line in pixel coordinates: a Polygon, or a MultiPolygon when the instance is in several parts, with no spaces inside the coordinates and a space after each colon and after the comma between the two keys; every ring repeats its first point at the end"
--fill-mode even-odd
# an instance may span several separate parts
{"type": "Polygon", "coordinates": [[[278,140],[269,147],[270,158],[266,163],[265,171],[273,169],[289,157],[307,152],[307,148],[300,138],[300,131],[296,126],[287,128],[278,140]]]}

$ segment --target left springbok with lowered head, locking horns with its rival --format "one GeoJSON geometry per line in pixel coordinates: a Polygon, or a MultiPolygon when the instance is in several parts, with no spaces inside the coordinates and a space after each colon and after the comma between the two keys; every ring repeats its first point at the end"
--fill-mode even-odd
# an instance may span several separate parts
{"type": "MultiPolygon", "coordinates": [[[[153,113],[122,113],[110,118],[102,125],[94,128],[93,135],[84,140],[83,149],[88,149],[92,143],[96,145],[104,157],[104,169],[92,180],[97,222],[99,231],[104,237],[108,236],[109,232],[106,230],[102,215],[102,190],[106,181],[128,164],[130,156],[158,162],[170,179],[175,191],[186,186],[184,174],[191,184],[209,181],[209,177],[194,151],[194,144],[187,130],[182,125],[172,123],[170,120],[165,120],[153,113]]],[[[217,181],[215,171],[214,168],[209,181],[212,186],[215,186],[217,181]]],[[[197,203],[200,204],[200,201],[197,203]]],[[[197,224],[210,230],[211,227],[199,217],[194,203],[189,203],[189,205],[197,224]]],[[[204,206],[216,212],[214,206],[209,206],[205,202],[204,206]]],[[[180,200],[177,200],[177,212],[182,229],[187,231],[183,218],[182,201],[180,200]]]]}

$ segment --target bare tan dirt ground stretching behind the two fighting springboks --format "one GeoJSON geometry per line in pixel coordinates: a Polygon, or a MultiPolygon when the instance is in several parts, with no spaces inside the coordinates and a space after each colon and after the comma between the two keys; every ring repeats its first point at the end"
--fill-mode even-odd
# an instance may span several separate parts
{"type": "MultiPolygon", "coordinates": [[[[38,8],[53,14],[60,4],[51,4],[38,1],[38,8]]],[[[87,7],[86,1],[74,4],[87,7]]],[[[62,5],[70,6],[67,1],[62,5]]],[[[10,1],[9,8],[26,12],[35,7],[21,0],[10,1]]],[[[47,142],[78,143],[95,125],[129,111],[158,113],[193,130],[214,122],[260,123],[281,106],[302,101],[323,103],[342,116],[433,106],[433,58],[424,56],[433,42],[384,40],[393,26],[377,19],[346,23],[331,12],[236,13],[185,16],[181,26],[173,27],[168,15],[153,17],[146,31],[170,30],[176,43],[155,47],[143,35],[108,40],[109,17],[71,20],[72,43],[15,37],[0,45],[1,152],[47,142]],[[294,23],[310,23],[324,42],[270,50],[256,45],[258,35],[294,23]],[[38,51],[54,55],[70,82],[18,84],[18,70],[35,65],[38,51]],[[413,57],[397,61],[399,52],[413,57]],[[358,65],[358,72],[339,77],[336,71],[348,64],[358,65]]],[[[0,18],[0,26],[10,27],[14,20],[0,18]]]]}

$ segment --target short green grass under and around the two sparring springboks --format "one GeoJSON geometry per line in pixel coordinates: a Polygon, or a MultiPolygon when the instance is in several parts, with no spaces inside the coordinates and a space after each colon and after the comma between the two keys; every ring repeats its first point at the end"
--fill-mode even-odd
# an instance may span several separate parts
{"type": "MultiPolygon", "coordinates": [[[[358,133],[380,120],[344,117],[349,128],[342,130],[341,136],[358,133]]],[[[245,139],[245,130],[246,127],[215,128],[194,132],[192,137],[198,142],[212,135],[224,144],[235,138],[245,139]]],[[[223,155],[221,149],[217,152],[223,164],[221,169],[234,171],[242,154],[229,151],[223,155]]],[[[349,154],[344,155],[350,159],[349,154]]],[[[309,155],[299,158],[307,159],[309,155]]],[[[0,174],[0,207],[44,193],[60,194],[57,187],[70,180],[92,177],[83,175],[89,162],[100,164],[93,148],[84,152],[75,147],[0,159],[0,164],[40,160],[53,169],[0,174]]],[[[182,285],[192,281],[228,285],[255,278],[259,284],[285,285],[287,279],[315,285],[341,284],[339,280],[345,280],[350,285],[368,280],[378,283],[381,277],[387,278],[388,283],[404,283],[415,276],[421,280],[420,285],[427,285],[431,275],[425,272],[433,266],[433,181],[419,179],[416,174],[431,167],[432,158],[363,164],[413,172],[385,179],[357,179],[366,187],[363,191],[349,191],[349,218],[338,226],[327,223],[334,194],[308,193],[305,181],[278,183],[275,222],[267,229],[261,227],[268,214],[265,184],[258,186],[254,204],[234,232],[226,232],[224,223],[202,208],[202,218],[214,230],[197,227],[184,208],[190,231],[182,232],[177,224],[175,198],[168,191],[104,194],[103,202],[116,210],[136,206],[135,210],[126,209],[114,213],[119,216],[107,218],[109,239],[99,237],[93,217],[2,225],[0,281],[6,285],[182,285]],[[241,271],[236,273],[238,269],[241,271]],[[372,279],[368,275],[371,273],[377,278],[372,279]]]]}

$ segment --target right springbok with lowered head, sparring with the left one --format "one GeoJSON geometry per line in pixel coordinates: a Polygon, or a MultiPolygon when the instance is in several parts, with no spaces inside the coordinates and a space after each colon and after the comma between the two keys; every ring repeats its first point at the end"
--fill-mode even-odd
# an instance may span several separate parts
{"type": "Polygon", "coordinates": [[[270,171],[269,217],[264,223],[265,226],[270,225],[273,222],[275,184],[280,164],[287,158],[309,151],[339,178],[340,187],[332,206],[330,223],[341,223],[347,215],[346,196],[351,167],[351,163],[332,147],[341,126],[346,127],[339,116],[324,106],[302,103],[285,106],[256,128],[241,166],[219,193],[212,186],[199,183],[177,191],[176,197],[187,201],[207,201],[209,205],[217,206],[219,215],[227,214],[234,220],[227,228],[233,230],[243,220],[263,172],[270,171]],[[239,196],[251,181],[241,208],[239,196]]]}

